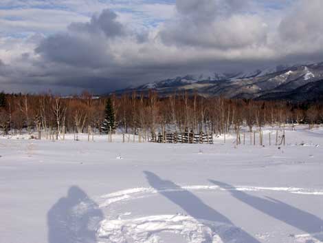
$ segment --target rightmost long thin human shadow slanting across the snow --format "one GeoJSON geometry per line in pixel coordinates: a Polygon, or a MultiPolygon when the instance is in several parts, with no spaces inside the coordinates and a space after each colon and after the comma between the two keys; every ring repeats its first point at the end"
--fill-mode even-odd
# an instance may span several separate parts
{"type": "Polygon", "coordinates": [[[276,200],[274,198],[266,197],[259,198],[257,196],[249,195],[243,191],[238,191],[235,187],[224,182],[210,180],[213,184],[230,191],[232,196],[245,204],[261,211],[277,220],[285,222],[305,233],[311,234],[317,240],[322,241],[322,235],[318,236],[317,233],[322,231],[323,220],[318,216],[302,211],[293,207],[285,202],[276,200]]]}

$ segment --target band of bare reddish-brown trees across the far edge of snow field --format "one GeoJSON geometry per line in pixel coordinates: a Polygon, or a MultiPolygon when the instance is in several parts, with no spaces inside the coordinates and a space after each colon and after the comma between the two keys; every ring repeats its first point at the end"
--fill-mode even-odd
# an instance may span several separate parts
{"type": "Polygon", "coordinates": [[[173,94],[161,97],[148,94],[93,97],[52,94],[0,94],[0,129],[3,134],[27,131],[87,132],[91,126],[98,133],[122,129],[125,133],[156,134],[158,131],[194,131],[223,134],[242,125],[261,129],[264,125],[323,121],[322,103],[235,100],[204,98],[198,94],[173,94]]]}

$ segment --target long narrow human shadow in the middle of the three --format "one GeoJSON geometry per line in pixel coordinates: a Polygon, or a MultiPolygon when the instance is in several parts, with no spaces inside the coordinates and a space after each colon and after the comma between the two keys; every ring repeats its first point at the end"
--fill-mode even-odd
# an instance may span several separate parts
{"type": "MultiPolygon", "coordinates": [[[[171,202],[174,202],[179,207],[181,207],[186,213],[188,213],[192,218],[199,220],[207,220],[212,223],[220,223],[234,226],[234,224],[226,218],[221,213],[215,211],[207,204],[205,204],[201,199],[195,196],[190,191],[179,187],[170,180],[163,180],[159,178],[155,173],[150,171],[144,171],[144,174],[148,180],[148,183],[156,189],[161,195],[168,198],[171,202]]],[[[205,222],[202,222],[205,224],[205,222]]],[[[221,237],[223,242],[232,242],[232,235],[221,230],[220,228],[214,229],[215,233],[221,237]]],[[[239,239],[235,239],[234,242],[245,242],[245,243],[260,243],[252,235],[239,229],[239,239]]],[[[212,243],[212,239],[206,239],[205,243],[212,243]]]]}

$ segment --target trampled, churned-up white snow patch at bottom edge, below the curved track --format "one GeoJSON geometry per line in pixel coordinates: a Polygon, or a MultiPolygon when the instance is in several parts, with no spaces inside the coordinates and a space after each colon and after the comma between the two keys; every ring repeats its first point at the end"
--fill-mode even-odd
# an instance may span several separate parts
{"type": "Polygon", "coordinates": [[[179,234],[188,243],[244,242],[243,233],[236,226],[196,220],[189,215],[151,215],[131,220],[104,220],[98,237],[104,242],[163,242],[160,233],[179,234]],[[217,232],[217,233],[215,233],[217,232]],[[225,235],[221,240],[219,234],[225,235]]]}

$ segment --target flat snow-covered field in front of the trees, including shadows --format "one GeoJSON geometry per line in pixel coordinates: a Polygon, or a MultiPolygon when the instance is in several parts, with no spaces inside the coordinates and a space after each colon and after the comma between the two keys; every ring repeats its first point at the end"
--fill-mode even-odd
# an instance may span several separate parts
{"type": "Polygon", "coordinates": [[[2,137],[0,242],[323,242],[323,130],[296,130],[280,149],[2,137]]]}

